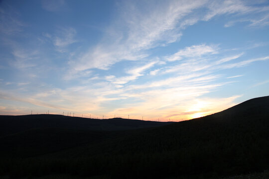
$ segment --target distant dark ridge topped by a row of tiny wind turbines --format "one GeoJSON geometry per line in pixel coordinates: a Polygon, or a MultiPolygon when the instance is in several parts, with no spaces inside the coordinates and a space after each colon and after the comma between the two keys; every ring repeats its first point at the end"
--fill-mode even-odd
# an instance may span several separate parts
{"type": "Polygon", "coordinates": [[[115,131],[157,127],[167,125],[169,123],[172,122],[142,121],[123,118],[90,119],[54,114],[33,114],[19,116],[0,115],[0,136],[44,127],[94,131],[115,131]]]}

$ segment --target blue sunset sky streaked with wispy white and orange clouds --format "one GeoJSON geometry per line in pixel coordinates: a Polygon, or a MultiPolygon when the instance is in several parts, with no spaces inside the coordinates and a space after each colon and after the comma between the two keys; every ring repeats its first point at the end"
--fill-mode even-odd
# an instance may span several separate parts
{"type": "Polygon", "coordinates": [[[269,95],[269,0],[1,0],[0,114],[181,121],[269,95]]]}

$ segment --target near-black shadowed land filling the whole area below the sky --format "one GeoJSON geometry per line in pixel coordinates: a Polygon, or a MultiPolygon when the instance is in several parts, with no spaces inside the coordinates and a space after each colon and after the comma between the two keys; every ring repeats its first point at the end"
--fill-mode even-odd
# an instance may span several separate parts
{"type": "Polygon", "coordinates": [[[0,175],[4,178],[268,176],[263,171],[269,169],[269,96],[209,116],[149,128],[141,127],[145,121],[132,121],[136,127],[130,127],[128,119],[119,119],[114,127],[93,130],[83,120],[81,125],[70,117],[72,125],[67,125],[66,118],[46,116],[50,122],[33,121],[33,115],[0,117],[0,175]]]}

